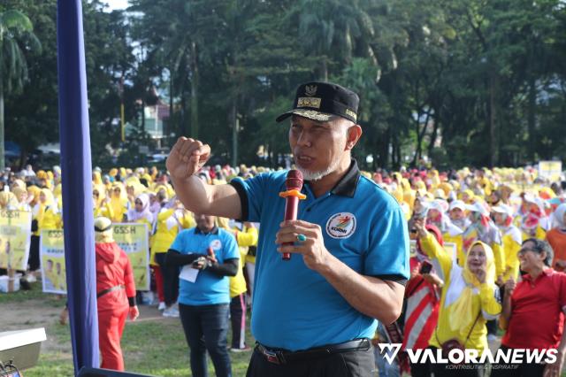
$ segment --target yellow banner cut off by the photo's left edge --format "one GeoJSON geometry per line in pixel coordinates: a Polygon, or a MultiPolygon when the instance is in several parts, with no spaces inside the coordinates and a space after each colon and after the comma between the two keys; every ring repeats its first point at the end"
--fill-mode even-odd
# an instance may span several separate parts
{"type": "Polygon", "coordinates": [[[27,270],[32,212],[0,211],[0,268],[27,270]]]}

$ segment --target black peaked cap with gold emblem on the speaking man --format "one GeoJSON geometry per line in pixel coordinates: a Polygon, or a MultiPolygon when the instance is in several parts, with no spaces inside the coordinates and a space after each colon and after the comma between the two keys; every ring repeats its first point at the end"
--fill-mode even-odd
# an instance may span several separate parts
{"type": "Polygon", "coordinates": [[[312,81],[297,88],[293,110],[285,112],[276,121],[291,115],[327,122],[339,116],[356,123],[360,98],[353,91],[332,82],[312,81]]]}

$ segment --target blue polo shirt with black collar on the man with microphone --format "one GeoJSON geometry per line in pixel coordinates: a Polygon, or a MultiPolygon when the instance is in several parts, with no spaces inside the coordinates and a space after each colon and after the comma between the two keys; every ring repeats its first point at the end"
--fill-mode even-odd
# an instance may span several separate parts
{"type": "MultiPolygon", "coordinates": [[[[300,255],[281,260],[275,234],[285,211],[286,171],[263,173],[231,184],[241,199],[242,219],[261,222],[251,329],[273,348],[306,350],[373,337],[378,321],[358,312],[300,255]]],[[[348,173],[315,198],[305,182],[297,219],[322,228],[325,247],[357,273],[404,284],[409,278],[409,234],[399,204],[361,176],[353,160],[348,173]]]]}

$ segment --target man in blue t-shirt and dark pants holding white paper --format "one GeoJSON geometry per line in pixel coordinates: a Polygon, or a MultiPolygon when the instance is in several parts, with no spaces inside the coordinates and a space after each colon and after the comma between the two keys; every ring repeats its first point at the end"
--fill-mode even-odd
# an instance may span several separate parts
{"type": "Polygon", "coordinates": [[[240,251],[233,235],[216,227],[215,220],[195,213],[196,227],[181,231],[165,257],[166,265],[180,267],[179,314],[195,377],[207,375],[206,350],[216,375],[232,376],[226,348],[228,276],[238,272],[240,251]]]}

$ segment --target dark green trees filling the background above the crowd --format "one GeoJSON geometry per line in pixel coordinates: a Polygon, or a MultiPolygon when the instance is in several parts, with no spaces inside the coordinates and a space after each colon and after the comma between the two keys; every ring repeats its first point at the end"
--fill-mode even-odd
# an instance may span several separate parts
{"type": "MultiPolygon", "coordinates": [[[[6,102],[25,152],[57,140],[56,0],[7,0],[28,15],[41,55],[6,102]],[[23,81],[22,81],[23,83],[23,81]]],[[[361,98],[356,156],[376,166],[520,165],[564,158],[565,7],[560,0],[131,0],[84,3],[92,150],[111,165],[149,144],[141,117],[156,89],[165,134],[198,135],[215,163],[278,164],[294,88],[328,77],[361,98]],[[123,82],[123,89],[120,83],[123,82]],[[119,142],[119,104],[140,130],[119,142]],[[234,132],[238,119],[239,129],[234,132]],[[233,156],[233,138],[239,145],[233,156]],[[465,142],[462,142],[465,141],[465,142]],[[258,159],[263,147],[271,153],[258,159]],[[446,160],[446,161],[445,161],[446,160]]],[[[13,125],[13,126],[12,126],[13,125]]],[[[174,138],[168,138],[166,143],[174,138]]],[[[143,158],[138,161],[142,162],[143,158]]]]}

